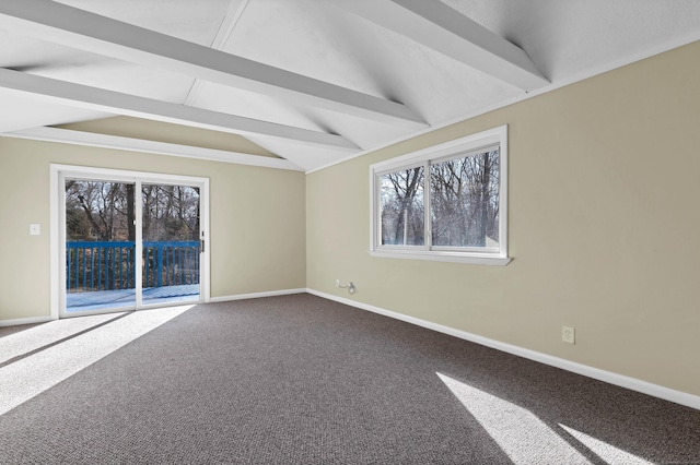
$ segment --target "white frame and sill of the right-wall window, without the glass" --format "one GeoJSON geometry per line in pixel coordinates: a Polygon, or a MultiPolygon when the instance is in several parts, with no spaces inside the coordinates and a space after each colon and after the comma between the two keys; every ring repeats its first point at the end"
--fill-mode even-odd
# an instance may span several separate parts
{"type": "MultiPolygon", "coordinates": [[[[423,191],[425,217],[430,216],[430,189],[423,191]]],[[[477,134],[467,135],[443,144],[412,152],[396,158],[370,166],[370,255],[392,259],[432,260],[441,262],[472,263],[485,265],[506,265],[508,257],[508,126],[501,126],[477,134]],[[425,246],[388,246],[381,240],[381,182],[380,177],[401,170],[423,166],[424,176],[430,176],[430,164],[456,158],[462,154],[478,152],[499,145],[499,247],[497,248],[454,248],[430,247],[429,236],[425,246]]],[[[427,235],[430,227],[427,225],[427,235]]]]}

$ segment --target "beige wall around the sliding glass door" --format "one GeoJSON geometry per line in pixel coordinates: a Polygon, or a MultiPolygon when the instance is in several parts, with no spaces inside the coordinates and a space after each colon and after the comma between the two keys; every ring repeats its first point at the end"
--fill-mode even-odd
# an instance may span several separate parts
{"type": "Polygon", "coordinates": [[[0,320],[49,314],[51,163],[208,177],[211,297],[305,287],[303,172],[0,138],[0,320]]]}

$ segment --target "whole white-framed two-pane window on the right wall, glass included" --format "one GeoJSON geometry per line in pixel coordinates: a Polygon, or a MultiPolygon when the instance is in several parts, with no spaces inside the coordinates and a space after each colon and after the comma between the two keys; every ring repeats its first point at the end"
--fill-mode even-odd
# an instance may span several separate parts
{"type": "Polygon", "coordinates": [[[370,167],[370,253],[506,264],[508,128],[370,167]]]}

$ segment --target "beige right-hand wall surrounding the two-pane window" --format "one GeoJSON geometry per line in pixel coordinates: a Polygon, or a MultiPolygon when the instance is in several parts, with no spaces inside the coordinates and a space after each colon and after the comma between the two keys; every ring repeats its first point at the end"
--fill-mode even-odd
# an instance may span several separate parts
{"type": "Polygon", "coordinates": [[[700,395],[698,57],[700,43],[308,175],[307,287],[700,395]],[[513,262],[371,258],[370,164],[501,124],[513,262]]]}

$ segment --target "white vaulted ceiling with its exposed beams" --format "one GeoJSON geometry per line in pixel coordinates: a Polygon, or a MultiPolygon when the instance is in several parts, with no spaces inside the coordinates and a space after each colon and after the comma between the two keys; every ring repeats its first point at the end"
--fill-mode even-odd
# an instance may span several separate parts
{"type": "Polygon", "coordinates": [[[0,133],[125,115],[308,171],[698,39],[697,0],[0,0],[0,133]]]}

